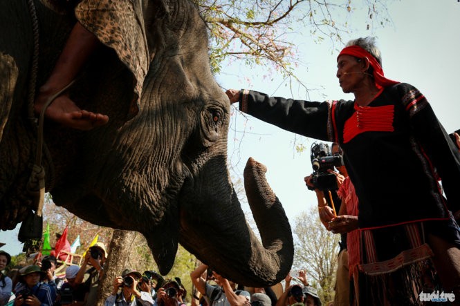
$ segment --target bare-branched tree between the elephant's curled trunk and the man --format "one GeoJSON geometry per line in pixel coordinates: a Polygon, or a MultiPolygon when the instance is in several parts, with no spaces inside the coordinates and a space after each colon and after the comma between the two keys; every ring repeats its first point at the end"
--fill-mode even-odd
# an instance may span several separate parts
{"type": "Polygon", "coordinates": [[[309,283],[317,287],[322,300],[333,300],[340,235],[326,231],[318,209],[295,218],[293,268],[305,269],[309,283]]]}

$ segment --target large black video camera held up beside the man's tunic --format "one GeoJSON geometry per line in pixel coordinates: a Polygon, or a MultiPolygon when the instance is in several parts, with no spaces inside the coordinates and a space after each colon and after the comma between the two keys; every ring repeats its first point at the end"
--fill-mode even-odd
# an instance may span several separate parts
{"type": "Polygon", "coordinates": [[[328,170],[333,170],[334,166],[343,166],[342,155],[340,153],[332,155],[329,144],[313,142],[310,158],[313,168],[311,178],[313,187],[308,186],[308,189],[319,189],[320,191],[338,190],[337,178],[333,173],[329,173],[328,170]]]}

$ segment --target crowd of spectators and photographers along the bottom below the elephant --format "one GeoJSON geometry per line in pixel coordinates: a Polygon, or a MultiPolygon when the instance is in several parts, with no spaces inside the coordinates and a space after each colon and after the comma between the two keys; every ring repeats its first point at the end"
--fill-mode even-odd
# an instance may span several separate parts
{"type": "MultiPolygon", "coordinates": [[[[100,280],[104,276],[107,251],[100,242],[86,251],[79,265],[66,265],[54,256],[44,256],[26,265],[11,277],[1,274],[0,306],[94,306],[98,303],[100,280]],[[64,277],[55,275],[58,265],[65,265],[64,277]]],[[[0,251],[0,270],[11,262],[11,256],[0,251]]],[[[248,288],[201,264],[190,273],[194,289],[187,296],[181,278],[165,279],[156,271],[143,273],[126,268],[111,280],[104,306],[322,306],[318,292],[306,280],[305,271],[297,271],[295,280],[286,276],[274,287],[248,288]]]]}

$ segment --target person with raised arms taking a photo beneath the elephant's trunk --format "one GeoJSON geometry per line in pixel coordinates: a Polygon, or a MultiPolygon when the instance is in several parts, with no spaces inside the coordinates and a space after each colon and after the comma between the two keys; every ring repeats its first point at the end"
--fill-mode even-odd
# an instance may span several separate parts
{"type": "Polygon", "coordinates": [[[205,264],[199,265],[192,273],[192,283],[196,289],[207,296],[210,306],[243,306],[250,304],[250,294],[248,291],[235,290],[236,284],[223,278],[216,271],[208,270],[207,278],[203,274],[208,270],[205,264]],[[207,280],[214,278],[217,286],[208,284],[207,280]]]}

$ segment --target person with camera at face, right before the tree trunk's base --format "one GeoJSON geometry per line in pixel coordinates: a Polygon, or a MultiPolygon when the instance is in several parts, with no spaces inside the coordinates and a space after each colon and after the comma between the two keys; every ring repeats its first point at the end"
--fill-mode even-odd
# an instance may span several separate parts
{"type": "Polygon", "coordinates": [[[142,275],[133,269],[125,269],[121,276],[113,280],[113,290],[105,300],[105,306],[151,306],[154,300],[150,292],[139,291],[138,283],[142,275]]]}

